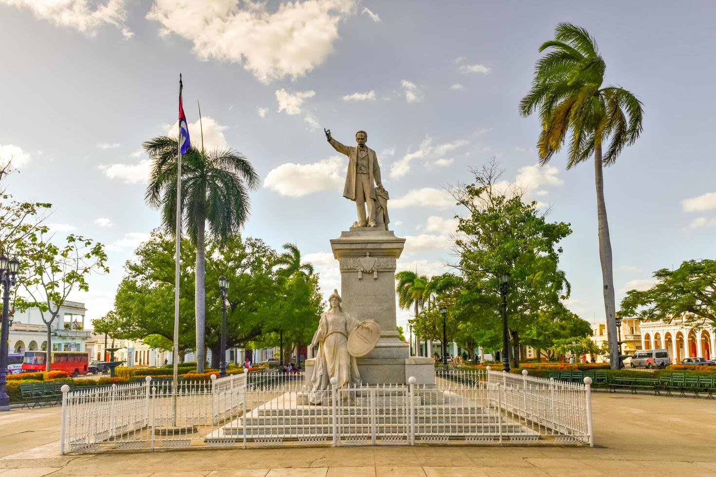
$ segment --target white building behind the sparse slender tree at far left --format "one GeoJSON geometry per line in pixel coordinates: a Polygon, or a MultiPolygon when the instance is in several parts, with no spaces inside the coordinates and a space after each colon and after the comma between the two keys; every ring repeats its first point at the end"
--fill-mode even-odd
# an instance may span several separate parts
{"type": "MultiPolygon", "coordinates": [[[[85,351],[87,338],[92,335],[84,330],[84,303],[65,300],[52,323],[53,351],[85,351]]],[[[47,313],[45,313],[47,317],[47,313]]],[[[47,326],[42,321],[40,310],[30,308],[12,315],[9,328],[10,353],[24,353],[32,350],[47,350],[47,326]]]]}

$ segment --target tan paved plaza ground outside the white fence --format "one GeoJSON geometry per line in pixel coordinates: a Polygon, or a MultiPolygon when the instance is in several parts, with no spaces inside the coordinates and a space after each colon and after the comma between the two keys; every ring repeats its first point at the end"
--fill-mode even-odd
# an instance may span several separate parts
{"type": "Polygon", "coordinates": [[[593,393],[596,447],[379,446],[59,456],[59,407],[0,414],[0,477],[716,476],[716,401],[593,393]]]}

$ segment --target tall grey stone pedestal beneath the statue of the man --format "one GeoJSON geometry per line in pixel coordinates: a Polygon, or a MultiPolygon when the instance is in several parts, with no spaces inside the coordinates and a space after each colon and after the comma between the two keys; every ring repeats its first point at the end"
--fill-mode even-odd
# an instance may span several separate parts
{"type": "MultiPolygon", "coordinates": [[[[410,376],[435,384],[432,358],[411,358],[410,345],[396,330],[395,265],[404,245],[394,232],[372,227],[351,227],[331,240],[341,270],[342,308],[359,321],[372,318],[380,324],[378,344],[357,358],[364,384],[404,384],[410,376]]],[[[312,364],[306,361],[307,376],[312,364]]]]}

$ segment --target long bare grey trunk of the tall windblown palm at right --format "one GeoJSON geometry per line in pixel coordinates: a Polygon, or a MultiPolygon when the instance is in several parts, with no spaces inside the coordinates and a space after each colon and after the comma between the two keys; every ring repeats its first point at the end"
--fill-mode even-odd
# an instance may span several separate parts
{"type": "Polygon", "coordinates": [[[601,281],[604,285],[604,315],[606,336],[609,340],[609,363],[611,369],[619,369],[619,344],[616,334],[616,304],[614,300],[614,272],[611,262],[609,223],[606,220],[604,202],[604,169],[601,164],[601,137],[594,140],[594,184],[596,185],[596,220],[599,227],[599,261],[601,281]]]}

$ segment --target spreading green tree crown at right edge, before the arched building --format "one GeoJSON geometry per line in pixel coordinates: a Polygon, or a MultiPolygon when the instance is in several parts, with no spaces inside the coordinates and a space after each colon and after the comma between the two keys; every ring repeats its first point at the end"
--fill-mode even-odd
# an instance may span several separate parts
{"type": "Polygon", "coordinates": [[[686,260],[676,270],[662,268],[653,276],[657,282],[649,290],[627,292],[619,315],[716,325],[716,260],[686,260]]]}

